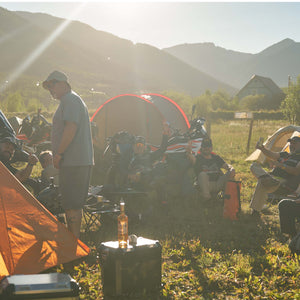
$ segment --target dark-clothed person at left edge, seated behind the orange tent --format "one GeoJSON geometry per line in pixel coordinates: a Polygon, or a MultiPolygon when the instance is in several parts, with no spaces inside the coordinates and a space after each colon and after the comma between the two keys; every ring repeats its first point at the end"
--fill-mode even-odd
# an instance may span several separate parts
{"type": "Polygon", "coordinates": [[[14,137],[4,137],[0,140],[0,161],[7,167],[7,169],[15,175],[15,177],[25,183],[32,172],[33,166],[38,162],[38,158],[34,154],[29,154],[28,163],[22,170],[14,168],[10,160],[13,157],[17,147],[17,141],[14,137]]]}

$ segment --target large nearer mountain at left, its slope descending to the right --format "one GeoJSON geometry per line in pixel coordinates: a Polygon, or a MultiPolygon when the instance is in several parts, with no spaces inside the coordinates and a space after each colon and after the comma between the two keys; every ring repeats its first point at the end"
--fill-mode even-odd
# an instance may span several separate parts
{"type": "Polygon", "coordinates": [[[62,70],[75,90],[93,89],[109,97],[165,90],[190,95],[207,89],[237,91],[150,45],[133,44],[78,21],[1,7],[0,65],[2,74],[17,70],[20,76],[39,81],[55,69],[62,70]]]}

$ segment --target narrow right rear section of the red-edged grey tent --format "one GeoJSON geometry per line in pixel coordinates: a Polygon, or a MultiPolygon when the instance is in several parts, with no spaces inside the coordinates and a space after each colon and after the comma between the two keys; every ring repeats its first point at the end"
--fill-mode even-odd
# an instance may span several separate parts
{"type": "Polygon", "coordinates": [[[186,114],[172,99],[154,93],[143,94],[141,96],[150,100],[159,109],[172,128],[179,129],[181,133],[185,133],[190,128],[186,114]]]}

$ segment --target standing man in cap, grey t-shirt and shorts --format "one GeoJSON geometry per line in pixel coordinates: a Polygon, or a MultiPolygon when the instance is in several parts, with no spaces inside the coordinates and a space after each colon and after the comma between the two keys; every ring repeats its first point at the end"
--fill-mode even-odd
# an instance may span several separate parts
{"type": "Polygon", "coordinates": [[[60,101],[52,120],[53,165],[59,169],[62,207],[68,229],[78,238],[82,207],[94,164],[89,114],[64,73],[52,72],[43,82],[43,87],[60,101]]]}

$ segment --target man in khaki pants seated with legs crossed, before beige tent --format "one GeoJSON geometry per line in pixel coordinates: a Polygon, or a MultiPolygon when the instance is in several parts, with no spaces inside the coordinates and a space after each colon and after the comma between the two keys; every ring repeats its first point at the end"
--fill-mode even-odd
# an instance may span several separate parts
{"type": "Polygon", "coordinates": [[[296,191],[300,183],[300,137],[294,136],[288,139],[290,143],[290,153],[273,152],[257,143],[256,148],[274,163],[273,170],[268,173],[260,164],[254,162],[250,169],[258,179],[254,194],[251,199],[250,208],[253,215],[259,215],[267,198],[268,193],[273,193],[282,185],[287,193],[296,191]]]}

